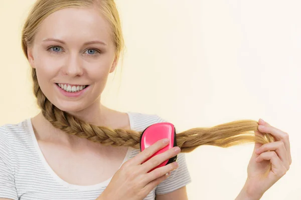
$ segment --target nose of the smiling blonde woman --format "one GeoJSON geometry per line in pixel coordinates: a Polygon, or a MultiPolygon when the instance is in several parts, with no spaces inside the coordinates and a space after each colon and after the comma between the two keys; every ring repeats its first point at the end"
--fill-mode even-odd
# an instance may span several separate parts
{"type": "Polygon", "coordinates": [[[75,53],[70,54],[63,67],[63,72],[64,72],[64,74],[70,75],[70,76],[82,75],[84,70],[83,70],[80,55],[75,54],[75,53]]]}

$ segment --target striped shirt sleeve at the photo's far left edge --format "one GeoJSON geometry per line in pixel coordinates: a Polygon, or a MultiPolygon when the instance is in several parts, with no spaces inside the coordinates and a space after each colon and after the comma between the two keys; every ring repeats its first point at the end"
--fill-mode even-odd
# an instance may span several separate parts
{"type": "Polygon", "coordinates": [[[8,132],[0,127],[0,198],[18,200],[9,150],[8,132]]]}

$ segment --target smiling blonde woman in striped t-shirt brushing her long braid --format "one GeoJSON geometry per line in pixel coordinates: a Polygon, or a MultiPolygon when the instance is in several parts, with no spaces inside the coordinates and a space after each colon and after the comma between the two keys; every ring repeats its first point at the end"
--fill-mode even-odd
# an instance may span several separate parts
{"type": "MultiPolygon", "coordinates": [[[[123,47],[113,0],[38,0],[26,20],[22,44],[41,113],[0,128],[0,200],[187,199],[185,185],[191,177],[179,147],[189,152],[201,144],[234,145],[236,140],[230,141],[234,134],[258,130],[252,121],[236,122],[238,131],[228,136],[217,128],[216,138],[214,129],[202,129],[197,132],[200,138],[209,139],[196,146],[188,142],[193,132],[183,132],[179,147],[141,164],[167,143],[160,140],[139,152],[137,132],[165,120],[119,112],[100,102],[123,47]],[[176,162],[146,173],[177,154],[176,162]]],[[[259,130],[272,136],[266,144],[262,145],[264,140],[255,144],[258,151],[251,157],[248,179],[237,199],[259,199],[291,162],[287,133],[259,123],[266,125],[259,130]]]]}

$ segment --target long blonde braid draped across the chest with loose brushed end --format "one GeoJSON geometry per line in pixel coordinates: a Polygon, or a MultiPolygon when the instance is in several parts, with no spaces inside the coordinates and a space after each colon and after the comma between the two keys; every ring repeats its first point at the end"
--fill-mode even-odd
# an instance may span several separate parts
{"type": "MultiPolygon", "coordinates": [[[[53,105],[42,92],[34,68],[32,70],[32,78],[38,105],[44,117],[50,121],[54,127],[68,134],[87,138],[103,145],[139,148],[141,132],[96,126],[62,111],[53,105]]],[[[254,135],[252,131],[258,131],[257,126],[258,122],[255,120],[237,120],[213,127],[191,128],[176,134],[177,144],[181,148],[181,152],[191,152],[200,145],[229,147],[254,141],[260,143],[273,141],[272,135],[268,133],[264,133],[263,136],[254,135]]]]}

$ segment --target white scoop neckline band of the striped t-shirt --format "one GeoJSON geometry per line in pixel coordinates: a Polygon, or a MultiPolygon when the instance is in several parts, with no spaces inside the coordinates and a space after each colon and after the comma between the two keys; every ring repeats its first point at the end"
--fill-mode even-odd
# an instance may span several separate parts
{"type": "MultiPolygon", "coordinates": [[[[130,112],[126,112],[128,117],[129,117],[129,124],[130,124],[130,129],[133,129],[133,118],[131,116],[131,113],[130,112]]],[[[66,187],[69,187],[71,189],[77,189],[77,190],[93,190],[93,189],[100,189],[101,187],[104,187],[104,186],[107,186],[108,183],[111,181],[113,175],[100,182],[100,183],[96,183],[96,184],[93,184],[93,185],[77,185],[77,184],[71,184],[71,183],[68,183],[67,181],[63,180],[60,176],[58,176],[56,174],[56,172],[50,167],[50,165],[48,164],[46,158],[44,157],[43,155],[43,152],[39,146],[39,143],[38,143],[38,140],[37,140],[37,137],[35,135],[35,132],[34,132],[34,129],[33,129],[33,124],[32,124],[32,121],[31,121],[31,118],[28,118],[27,119],[27,124],[28,124],[28,127],[29,127],[29,131],[30,131],[30,134],[32,136],[32,139],[33,139],[33,143],[34,143],[34,146],[36,148],[36,151],[37,153],[39,154],[39,158],[41,160],[41,162],[43,163],[43,165],[45,166],[45,168],[47,169],[47,171],[51,174],[51,176],[59,183],[61,183],[62,185],[66,186],[66,187]]],[[[126,155],[121,163],[121,165],[129,158],[130,156],[130,153],[132,151],[132,147],[128,147],[127,148],[127,152],[126,152],[126,155]]],[[[119,168],[121,167],[121,165],[119,166],[119,168]]],[[[119,169],[118,168],[118,169],[119,169]]]]}

